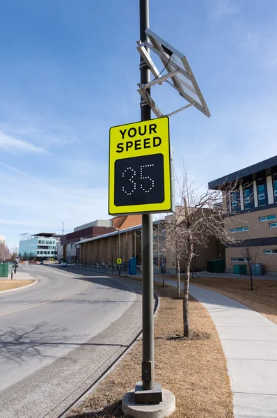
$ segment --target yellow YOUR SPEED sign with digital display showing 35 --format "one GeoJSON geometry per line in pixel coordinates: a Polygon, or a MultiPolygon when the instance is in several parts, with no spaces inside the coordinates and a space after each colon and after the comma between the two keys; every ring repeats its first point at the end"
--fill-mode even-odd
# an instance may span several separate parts
{"type": "Polygon", "coordinates": [[[172,212],[167,117],[111,127],[109,214],[172,212]]]}

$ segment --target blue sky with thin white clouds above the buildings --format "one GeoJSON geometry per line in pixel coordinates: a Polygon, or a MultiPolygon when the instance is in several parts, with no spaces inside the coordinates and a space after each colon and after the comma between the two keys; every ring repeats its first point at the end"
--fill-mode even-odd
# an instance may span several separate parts
{"type": "MultiPolygon", "coordinates": [[[[170,121],[175,167],[184,159],[200,187],[276,155],[277,2],[264,4],[150,0],[150,29],[187,56],[212,114],[170,121]]],[[[139,0],[2,1],[0,35],[0,235],[12,247],[108,217],[109,127],[140,118],[139,0]]],[[[164,86],[152,94],[164,113],[182,106],[164,86]]]]}

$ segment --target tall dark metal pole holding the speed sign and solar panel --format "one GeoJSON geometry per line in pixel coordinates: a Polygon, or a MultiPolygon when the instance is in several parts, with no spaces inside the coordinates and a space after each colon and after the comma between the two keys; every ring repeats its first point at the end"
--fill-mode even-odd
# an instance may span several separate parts
{"type": "MultiPolygon", "coordinates": [[[[148,40],[145,29],[149,28],[149,0],[140,0],[140,38],[148,40]]],[[[141,84],[150,82],[150,70],[141,57],[141,84]]],[[[150,94],[150,88],[148,88],[150,94]]],[[[151,119],[151,108],[141,99],[141,121],[151,119]]],[[[143,389],[150,390],[154,382],[154,306],[153,306],[153,232],[152,215],[142,215],[142,265],[143,265],[143,389]]]]}

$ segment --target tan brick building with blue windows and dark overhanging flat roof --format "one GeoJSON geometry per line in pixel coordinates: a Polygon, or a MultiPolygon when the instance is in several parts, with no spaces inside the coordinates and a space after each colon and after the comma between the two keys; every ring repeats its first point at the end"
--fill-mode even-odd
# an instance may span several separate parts
{"type": "Polygon", "coordinates": [[[225,250],[227,270],[246,263],[248,247],[252,263],[277,272],[277,156],[213,180],[209,189],[222,190],[223,207],[232,216],[228,228],[237,245],[225,250]]]}

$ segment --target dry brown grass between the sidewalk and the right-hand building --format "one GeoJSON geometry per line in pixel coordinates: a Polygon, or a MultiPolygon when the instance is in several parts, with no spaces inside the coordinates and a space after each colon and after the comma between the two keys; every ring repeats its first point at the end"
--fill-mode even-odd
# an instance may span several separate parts
{"type": "Polygon", "coordinates": [[[231,297],[277,324],[277,281],[253,279],[253,291],[250,278],[194,277],[191,284],[231,297]]]}

